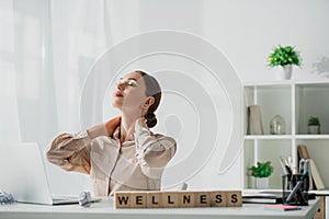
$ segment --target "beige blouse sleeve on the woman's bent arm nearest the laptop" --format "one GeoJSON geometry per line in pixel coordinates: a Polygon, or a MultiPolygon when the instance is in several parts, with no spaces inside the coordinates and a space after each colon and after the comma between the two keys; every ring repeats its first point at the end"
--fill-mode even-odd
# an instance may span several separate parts
{"type": "Polygon", "coordinates": [[[78,134],[61,134],[46,150],[47,160],[66,171],[90,173],[90,148],[92,139],[107,136],[105,125],[101,124],[78,134]]]}

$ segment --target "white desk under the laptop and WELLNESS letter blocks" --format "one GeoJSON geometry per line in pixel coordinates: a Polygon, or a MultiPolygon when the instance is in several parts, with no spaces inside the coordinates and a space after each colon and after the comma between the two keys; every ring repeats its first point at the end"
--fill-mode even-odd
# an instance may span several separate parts
{"type": "Polygon", "coordinates": [[[90,208],[82,208],[79,205],[43,206],[31,204],[0,205],[0,219],[162,219],[162,218],[266,218],[285,219],[298,218],[310,219],[319,208],[319,200],[310,200],[309,206],[302,210],[273,211],[264,210],[263,205],[243,204],[242,207],[225,208],[162,208],[162,209],[114,209],[112,200],[104,200],[93,204],[90,208]]]}

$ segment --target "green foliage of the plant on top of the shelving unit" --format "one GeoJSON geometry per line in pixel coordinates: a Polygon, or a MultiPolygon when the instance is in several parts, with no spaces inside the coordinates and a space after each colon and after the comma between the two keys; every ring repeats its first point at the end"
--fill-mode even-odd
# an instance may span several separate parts
{"type": "Polygon", "coordinates": [[[299,51],[292,46],[279,45],[269,56],[269,67],[295,65],[300,66],[302,58],[299,51]]]}

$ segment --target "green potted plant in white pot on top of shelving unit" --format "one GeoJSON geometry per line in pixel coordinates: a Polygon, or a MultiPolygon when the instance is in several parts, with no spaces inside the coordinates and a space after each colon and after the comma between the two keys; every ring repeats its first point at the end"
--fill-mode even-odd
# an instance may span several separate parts
{"type": "Polygon", "coordinates": [[[276,68],[276,78],[280,80],[290,80],[292,78],[293,66],[300,66],[302,58],[299,51],[293,46],[279,45],[269,56],[269,67],[276,68]]]}

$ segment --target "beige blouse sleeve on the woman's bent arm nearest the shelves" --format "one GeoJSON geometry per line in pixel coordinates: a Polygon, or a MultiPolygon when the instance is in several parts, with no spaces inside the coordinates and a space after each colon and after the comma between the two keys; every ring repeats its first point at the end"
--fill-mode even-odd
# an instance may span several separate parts
{"type": "Polygon", "coordinates": [[[135,125],[135,143],[143,173],[151,178],[160,178],[175,153],[175,140],[162,135],[152,135],[143,119],[138,119],[135,125]]]}

